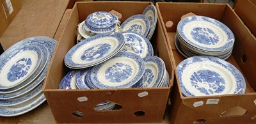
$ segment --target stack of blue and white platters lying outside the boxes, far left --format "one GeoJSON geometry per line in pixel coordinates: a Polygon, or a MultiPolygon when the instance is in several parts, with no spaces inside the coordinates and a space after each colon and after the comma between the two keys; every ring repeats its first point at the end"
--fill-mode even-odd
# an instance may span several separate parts
{"type": "Polygon", "coordinates": [[[24,114],[46,99],[43,82],[56,40],[37,36],[15,43],[0,56],[0,116],[24,114]]]}

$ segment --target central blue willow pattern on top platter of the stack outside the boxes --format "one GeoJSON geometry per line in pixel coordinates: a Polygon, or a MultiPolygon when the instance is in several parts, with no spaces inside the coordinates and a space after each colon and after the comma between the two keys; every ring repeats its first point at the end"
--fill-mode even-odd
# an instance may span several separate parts
{"type": "Polygon", "coordinates": [[[30,58],[19,59],[19,61],[12,65],[9,70],[7,74],[8,81],[13,82],[21,77],[24,77],[26,74],[28,74],[28,70],[30,69],[31,65],[32,61],[30,58]]]}

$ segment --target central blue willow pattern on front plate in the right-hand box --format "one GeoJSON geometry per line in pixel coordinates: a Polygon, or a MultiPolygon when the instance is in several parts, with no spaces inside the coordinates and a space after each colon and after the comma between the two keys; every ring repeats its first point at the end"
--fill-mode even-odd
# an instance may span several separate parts
{"type": "Polygon", "coordinates": [[[221,93],[225,89],[225,80],[211,70],[198,70],[190,77],[191,86],[205,95],[221,93]]]}

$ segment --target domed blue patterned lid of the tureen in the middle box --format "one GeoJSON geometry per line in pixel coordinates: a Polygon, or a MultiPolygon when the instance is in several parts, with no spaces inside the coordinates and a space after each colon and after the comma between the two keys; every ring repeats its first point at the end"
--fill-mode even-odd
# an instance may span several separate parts
{"type": "Polygon", "coordinates": [[[86,23],[95,28],[106,28],[113,26],[116,16],[109,12],[94,12],[85,19],[86,23]]]}

